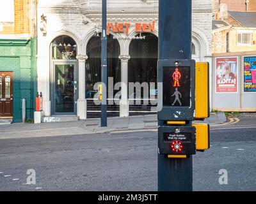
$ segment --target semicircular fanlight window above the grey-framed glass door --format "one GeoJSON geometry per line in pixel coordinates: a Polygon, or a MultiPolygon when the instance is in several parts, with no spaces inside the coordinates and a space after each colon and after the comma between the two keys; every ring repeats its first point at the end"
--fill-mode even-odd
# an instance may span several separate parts
{"type": "Polygon", "coordinates": [[[69,36],[58,36],[52,41],[52,59],[76,59],[76,47],[69,36]]]}

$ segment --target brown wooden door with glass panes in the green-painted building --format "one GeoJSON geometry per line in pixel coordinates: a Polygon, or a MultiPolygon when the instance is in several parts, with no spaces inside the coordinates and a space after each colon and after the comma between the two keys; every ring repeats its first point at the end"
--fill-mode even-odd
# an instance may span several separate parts
{"type": "Polygon", "coordinates": [[[0,117],[13,117],[13,73],[0,72],[0,117]]]}

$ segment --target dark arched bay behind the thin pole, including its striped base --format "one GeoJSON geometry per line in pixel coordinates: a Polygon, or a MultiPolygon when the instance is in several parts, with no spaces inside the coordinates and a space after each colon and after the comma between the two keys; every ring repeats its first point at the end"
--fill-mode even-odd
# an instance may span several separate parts
{"type": "MultiPolygon", "coordinates": [[[[93,90],[93,86],[97,82],[101,82],[101,39],[99,36],[93,36],[87,44],[86,54],[86,101],[87,101],[87,117],[100,117],[100,105],[96,105],[93,96],[97,91],[93,90]]],[[[117,82],[121,81],[121,63],[118,56],[120,55],[120,45],[111,34],[108,35],[108,87],[113,87],[117,82]]],[[[118,90],[108,91],[108,117],[119,116],[119,105],[113,103],[113,96],[118,90]],[[111,102],[111,103],[109,103],[111,102]]]]}

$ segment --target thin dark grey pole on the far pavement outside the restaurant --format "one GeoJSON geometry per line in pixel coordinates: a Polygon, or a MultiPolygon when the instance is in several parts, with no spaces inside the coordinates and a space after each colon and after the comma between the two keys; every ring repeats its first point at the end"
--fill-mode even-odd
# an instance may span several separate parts
{"type": "Polygon", "coordinates": [[[107,126],[107,83],[108,83],[108,50],[107,50],[107,0],[102,0],[102,33],[101,33],[101,127],[107,126]]]}

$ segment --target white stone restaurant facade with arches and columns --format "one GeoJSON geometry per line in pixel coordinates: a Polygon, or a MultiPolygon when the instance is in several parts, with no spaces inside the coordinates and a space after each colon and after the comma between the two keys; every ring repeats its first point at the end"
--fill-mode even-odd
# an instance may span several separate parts
{"type": "MultiPolygon", "coordinates": [[[[120,98],[108,106],[109,114],[148,113],[143,105],[131,105],[132,91],[127,87],[129,82],[157,82],[158,0],[107,2],[108,22],[129,24],[129,29],[120,25],[118,32],[109,29],[108,77],[122,87],[108,91],[109,100],[120,98]],[[138,23],[142,27],[153,22],[148,32],[136,30],[138,23]]],[[[193,0],[192,57],[210,66],[211,22],[211,0],[193,0]]],[[[93,86],[100,82],[100,33],[101,0],[38,0],[38,92],[44,98],[45,116],[99,116],[99,105],[92,101],[97,92],[93,86]]],[[[156,88],[150,88],[148,95],[157,97],[156,88]]]]}

